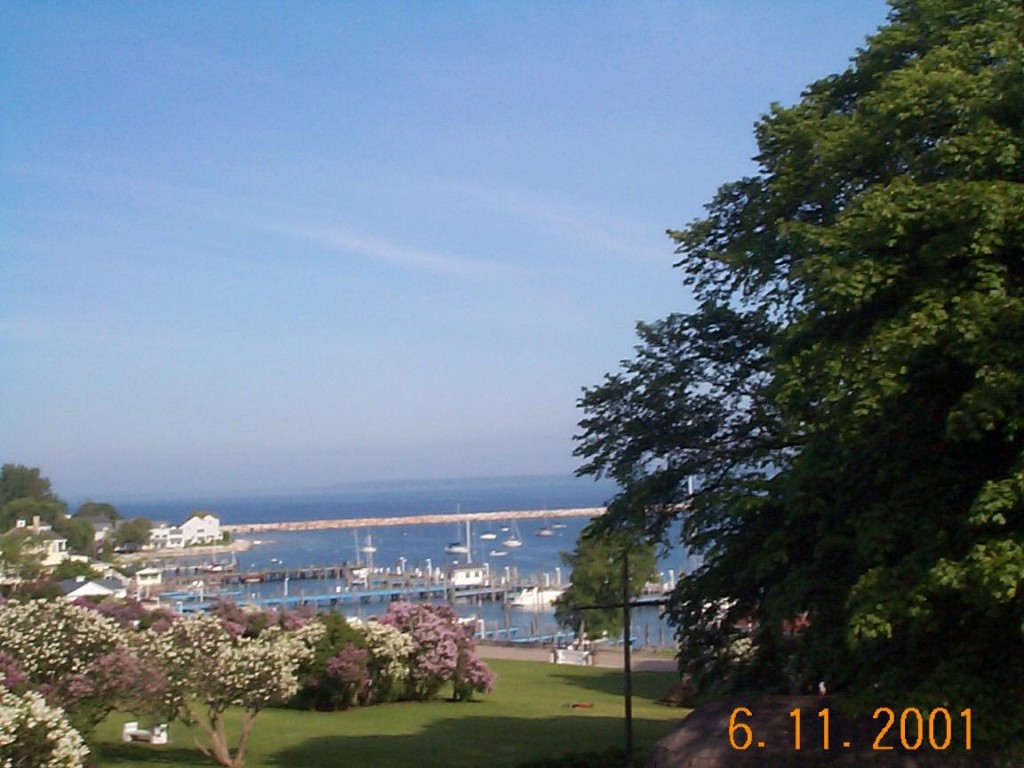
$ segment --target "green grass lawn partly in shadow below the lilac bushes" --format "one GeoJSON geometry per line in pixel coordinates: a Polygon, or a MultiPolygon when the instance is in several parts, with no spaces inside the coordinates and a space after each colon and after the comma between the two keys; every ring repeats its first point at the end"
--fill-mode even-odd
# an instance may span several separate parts
{"type": "MultiPolygon", "coordinates": [[[[624,742],[623,679],[616,670],[490,660],[497,690],[477,701],[396,703],[339,713],[268,710],[256,719],[248,768],[513,768],[540,757],[624,742]],[[570,708],[571,703],[593,705],[570,708]]],[[[667,734],[684,711],[656,703],[671,673],[634,673],[634,730],[641,750],[667,734]]],[[[99,731],[99,768],[179,766],[211,761],[171,725],[166,746],[122,744],[121,724],[99,731]]]]}

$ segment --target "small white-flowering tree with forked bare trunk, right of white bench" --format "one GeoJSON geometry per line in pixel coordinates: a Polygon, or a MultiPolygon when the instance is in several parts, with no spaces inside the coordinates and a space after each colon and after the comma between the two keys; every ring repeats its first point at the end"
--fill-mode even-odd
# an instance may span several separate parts
{"type": "Polygon", "coordinates": [[[198,615],[150,633],[150,652],[167,676],[167,703],[176,719],[199,726],[209,739],[203,743],[196,736],[200,752],[220,765],[241,768],[256,716],[295,695],[299,666],[312,656],[323,632],[311,622],[295,631],[270,627],[243,636],[216,616],[198,615]],[[233,748],[224,721],[232,706],[244,711],[233,748]]]}

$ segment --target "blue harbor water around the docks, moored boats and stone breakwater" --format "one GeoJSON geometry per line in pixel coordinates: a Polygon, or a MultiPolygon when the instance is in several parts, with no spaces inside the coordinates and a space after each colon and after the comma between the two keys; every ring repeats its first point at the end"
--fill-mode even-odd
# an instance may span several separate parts
{"type": "MultiPolygon", "coordinates": [[[[291,495],[247,497],[184,497],[134,499],[116,502],[125,517],[144,516],[154,522],[180,524],[194,510],[215,514],[223,524],[291,522],[317,519],[403,517],[410,515],[502,512],[603,506],[614,495],[609,483],[575,477],[532,477],[443,480],[361,484],[291,495]]],[[[504,520],[465,524],[409,524],[378,528],[273,531],[249,535],[251,548],[202,557],[168,560],[165,566],[179,573],[196,566],[237,569],[242,573],[314,568],[316,566],[366,567],[376,572],[433,579],[454,565],[469,562],[487,569],[493,581],[506,585],[566,586],[571,573],[563,553],[571,552],[587,525],[587,518],[504,520]],[[467,537],[468,532],[468,537],[467,537]],[[481,538],[482,537],[482,538],[481,538]],[[506,546],[516,539],[521,546],[506,546]],[[458,544],[458,547],[453,545],[458,544]],[[468,551],[461,551],[468,544],[468,551]],[[445,550],[460,550],[457,553],[445,550]]],[[[670,582],[692,563],[683,552],[669,552],[658,563],[658,579],[670,582]]],[[[189,600],[223,597],[241,603],[281,598],[324,598],[342,595],[351,588],[342,579],[289,579],[242,583],[217,594],[199,583],[190,594],[174,598],[175,607],[189,600]]],[[[443,597],[431,597],[440,600],[443,597]]],[[[173,603],[172,603],[173,604],[173,603]]],[[[461,615],[474,623],[479,634],[510,641],[543,638],[560,631],[550,606],[517,608],[502,600],[460,599],[454,603],[461,615]]],[[[334,608],[346,615],[369,620],[386,612],[386,602],[348,600],[334,608]]],[[[657,607],[642,607],[633,614],[634,642],[669,647],[673,632],[657,607]]]]}

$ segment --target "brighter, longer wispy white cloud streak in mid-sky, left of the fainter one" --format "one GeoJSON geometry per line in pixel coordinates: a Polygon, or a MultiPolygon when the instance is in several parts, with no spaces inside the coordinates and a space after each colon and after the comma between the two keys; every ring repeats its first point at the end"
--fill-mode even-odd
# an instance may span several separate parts
{"type": "Polygon", "coordinates": [[[271,226],[272,231],[322,248],[407,269],[462,278],[507,275],[510,267],[484,259],[471,259],[416,248],[343,226],[271,226]]]}

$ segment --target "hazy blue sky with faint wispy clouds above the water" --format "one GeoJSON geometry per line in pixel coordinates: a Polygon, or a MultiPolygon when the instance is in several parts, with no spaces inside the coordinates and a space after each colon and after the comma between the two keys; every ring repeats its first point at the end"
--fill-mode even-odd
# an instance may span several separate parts
{"type": "Polygon", "coordinates": [[[665,234],[877,0],[0,7],[0,461],[66,496],[567,473],[665,234]]]}

